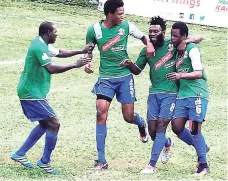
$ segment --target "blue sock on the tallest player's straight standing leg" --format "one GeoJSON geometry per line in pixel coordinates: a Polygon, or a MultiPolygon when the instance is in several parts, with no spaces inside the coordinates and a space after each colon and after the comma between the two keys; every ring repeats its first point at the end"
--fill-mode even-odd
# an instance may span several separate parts
{"type": "Polygon", "coordinates": [[[98,161],[106,163],[105,159],[105,138],[107,135],[106,124],[97,124],[96,125],[96,141],[97,141],[97,152],[98,152],[98,161]]]}

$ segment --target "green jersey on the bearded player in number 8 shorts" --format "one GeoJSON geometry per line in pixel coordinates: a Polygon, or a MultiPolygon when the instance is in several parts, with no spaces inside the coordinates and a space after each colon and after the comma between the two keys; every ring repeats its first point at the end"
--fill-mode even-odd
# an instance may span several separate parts
{"type": "Polygon", "coordinates": [[[149,61],[146,57],[146,49],[143,48],[135,65],[143,70],[148,63],[150,66],[150,93],[177,93],[178,86],[175,81],[166,79],[166,74],[175,72],[174,47],[170,39],[165,39],[162,47],[155,49],[155,56],[149,61]]]}

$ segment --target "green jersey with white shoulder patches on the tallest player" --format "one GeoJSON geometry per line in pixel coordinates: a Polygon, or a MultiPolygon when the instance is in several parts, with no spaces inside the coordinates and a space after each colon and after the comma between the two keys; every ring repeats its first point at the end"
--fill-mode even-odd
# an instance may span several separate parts
{"type": "Polygon", "coordinates": [[[130,74],[126,66],[119,66],[124,59],[129,59],[127,53],[128,35],[141,39],[143,33],[132,23],[122,21],[119,26],[110,29],[102,25],[102,21],[89,27],[86,43],[97,44],[100,52],[100,77],[113,78],[130,74]]]}

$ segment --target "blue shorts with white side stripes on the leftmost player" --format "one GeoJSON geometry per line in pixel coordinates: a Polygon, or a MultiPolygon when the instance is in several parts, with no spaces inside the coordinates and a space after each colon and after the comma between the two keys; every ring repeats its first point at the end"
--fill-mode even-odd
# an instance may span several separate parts
{"type": "Polygon", "coordinates": [[[25,116],[32,122],[48,120],[52,117],[56,117],[54,110],[48,104],[46,99],[20,100],[20,102],[25,116]]]}

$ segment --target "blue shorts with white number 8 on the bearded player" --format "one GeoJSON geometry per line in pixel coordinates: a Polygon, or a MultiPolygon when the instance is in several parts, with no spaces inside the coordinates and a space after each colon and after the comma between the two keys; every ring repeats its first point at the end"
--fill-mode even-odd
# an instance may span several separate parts
{"type": "Polygon", "coordinates": [[[147,100],[147,120],[172,119],[177,94],[153,93],[147,100]]]}

